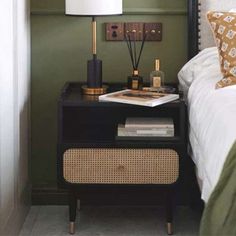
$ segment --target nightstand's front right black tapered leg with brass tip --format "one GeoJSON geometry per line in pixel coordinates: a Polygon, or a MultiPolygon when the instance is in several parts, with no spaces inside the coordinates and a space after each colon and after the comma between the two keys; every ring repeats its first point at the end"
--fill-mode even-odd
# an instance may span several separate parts
{"type": "Polygon", "coordinates": [[[173,191],[172,188],[167,187],[166,189],[166,227],[167,234],[173,234],[173,191]]]}

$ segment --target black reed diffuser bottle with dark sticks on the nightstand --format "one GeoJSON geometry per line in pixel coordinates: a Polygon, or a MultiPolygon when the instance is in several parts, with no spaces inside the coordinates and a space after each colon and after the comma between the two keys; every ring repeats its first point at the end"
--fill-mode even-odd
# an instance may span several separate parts
{"type": "Polygon", "coordinates": [[[126,34],[125,40],[127,43],[130,59],[133,66],[133,73],[131,76],[128,76],[128,88],[141,90],[143,87],[143,77],[139,75],[138,66],[139,66],[140,58],[143,52],[144,43],[146,40],[146,34],[143,37],[142,44],[141,44],[138,54],[137,54],[136,38],[134,37],[134,40],[131,40],[130,35],[126,34]]]}

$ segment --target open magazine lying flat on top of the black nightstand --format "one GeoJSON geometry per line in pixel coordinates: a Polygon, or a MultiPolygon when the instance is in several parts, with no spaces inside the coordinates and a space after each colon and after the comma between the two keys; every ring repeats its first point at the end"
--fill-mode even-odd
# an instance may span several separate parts
{"type": "Polygon", "coordinates": [[[119,102],[140,106],[155,107],[177,100],[179,94],[157,93],[142,90],[122,90],[99,96],[99,101],[119,102]]]}

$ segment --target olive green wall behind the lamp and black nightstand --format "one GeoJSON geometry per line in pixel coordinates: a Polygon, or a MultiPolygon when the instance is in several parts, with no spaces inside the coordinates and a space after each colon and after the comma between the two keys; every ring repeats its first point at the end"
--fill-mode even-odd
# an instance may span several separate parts
{"type": "MultiPolygon", "coordinates": [[[[163,41],[147,42],[140,73],[148,79],[160,58],[166,81],[177,81],[187,57],[185,0],[124,0],[125,14],[98,18],[103,81],[126,82],[131,63],[124,42],[106,42],[104,22],[162,22],[163,41]],[[134,14],[137,12],[137,14],[134,14]],[[131,14],[132,13],[132,14],[131,14]],[[155,13],[155,14],[154,14],[155,13]]],[[[90,18],[64,16],[64,0],[32,0],[32,183],[56,185],[57,99],[67,81],[86,80],[90,18]]]]}

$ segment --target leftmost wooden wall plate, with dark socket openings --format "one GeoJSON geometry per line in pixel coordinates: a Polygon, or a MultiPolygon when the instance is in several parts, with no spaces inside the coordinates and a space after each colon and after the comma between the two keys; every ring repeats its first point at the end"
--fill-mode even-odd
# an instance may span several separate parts
{"type": "Polygon", "coordinates": [[[114,22],[106,23],[106,40],[123,41],[124,40],[124,23],[114,22]]]}

